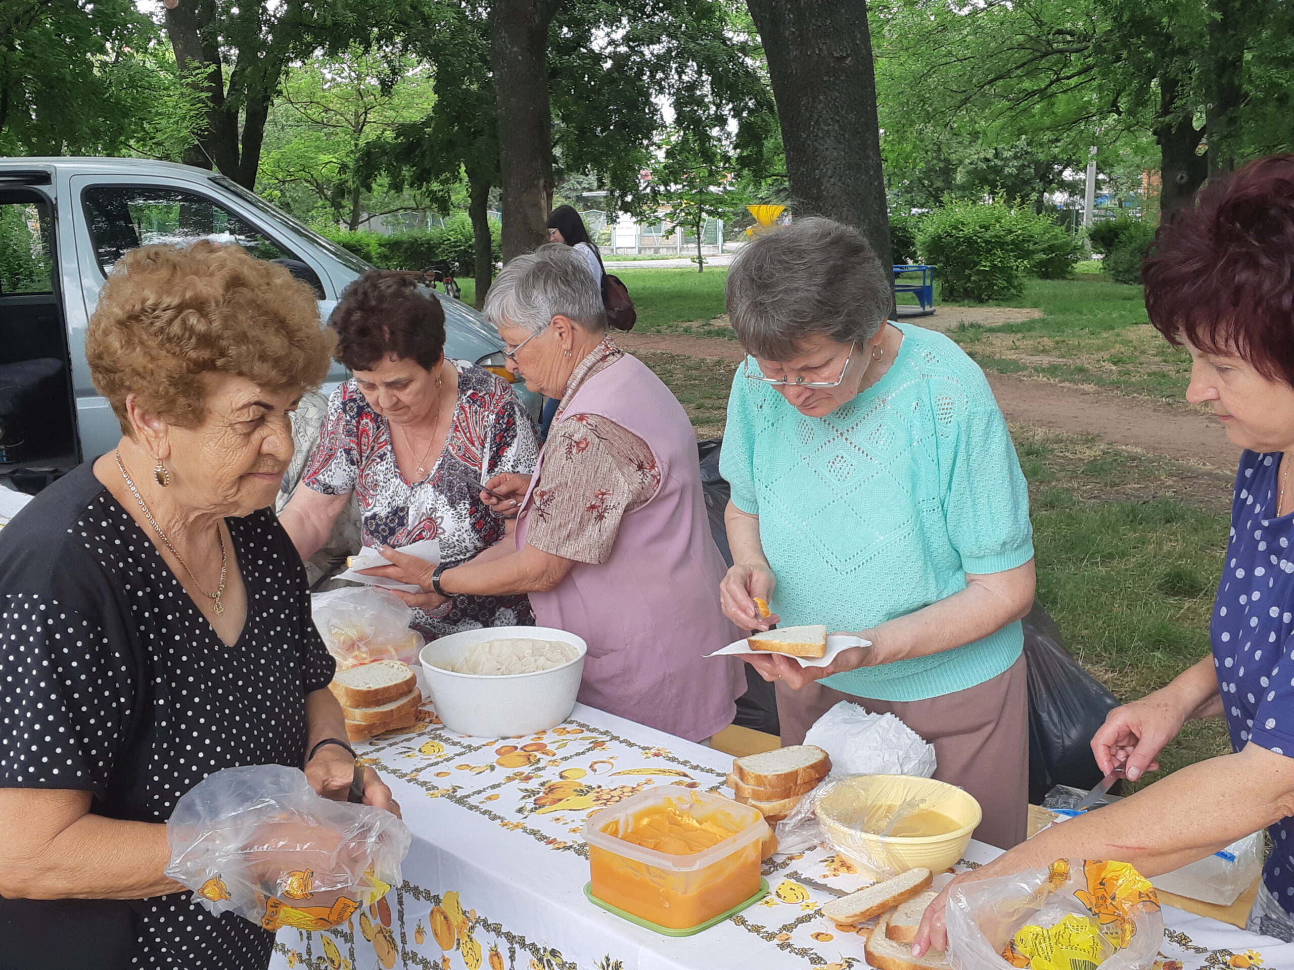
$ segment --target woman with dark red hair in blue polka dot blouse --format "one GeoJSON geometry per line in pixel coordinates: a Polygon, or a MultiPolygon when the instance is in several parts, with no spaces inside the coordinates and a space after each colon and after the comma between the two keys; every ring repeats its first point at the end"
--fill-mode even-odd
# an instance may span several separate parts
{"type": "MultiPolygon", "coordinates": [[[[1253,162],[1159,230],[1145,266],[1150,322],[1190,352],[1187,400],[1245,449],[1214,605],[1212,652],[1161,691],[1110,711],[1101,771],[1135,781],[1192,718],[1225,718],[1233,754],[1198,762],[1056,825],[960,877],[1053,859],[1112,859],[1146,876],[1254,832],[1272,852],[1249,929],[1294,939],[1294,155],[1253,162]]],[[[941,895],[914,952],[943,948],[941,895]]]]}

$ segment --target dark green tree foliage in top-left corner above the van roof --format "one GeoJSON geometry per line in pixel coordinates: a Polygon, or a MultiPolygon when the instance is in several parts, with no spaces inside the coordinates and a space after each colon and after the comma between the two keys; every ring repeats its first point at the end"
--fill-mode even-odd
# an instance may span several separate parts
{"type": "Polygon", "coordinates": [[[201,107],[133,0],[0,4],[0,154],[177,158],[201,107]]]}

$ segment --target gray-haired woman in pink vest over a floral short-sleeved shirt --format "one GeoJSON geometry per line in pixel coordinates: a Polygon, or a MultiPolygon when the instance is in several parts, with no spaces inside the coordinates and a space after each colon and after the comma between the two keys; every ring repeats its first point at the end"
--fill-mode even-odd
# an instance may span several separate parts
{"type": "Polygon", "coordinates": [[[519,510],[503,543],[458,566],[384,550],[369,570],[453,595],[528,592],[540,626],[589,644],[580,701],[691,741],[732,723],[740,662],[705,654],[740,632],[723,616],[725,566],[710,537],[696,438],[660,378],[607,335],[598,285],[578,253],[549,244],[509,263],[485,316],[509,370],[562,401],[533,476],[498,475],[481,501],[519,510]]]}

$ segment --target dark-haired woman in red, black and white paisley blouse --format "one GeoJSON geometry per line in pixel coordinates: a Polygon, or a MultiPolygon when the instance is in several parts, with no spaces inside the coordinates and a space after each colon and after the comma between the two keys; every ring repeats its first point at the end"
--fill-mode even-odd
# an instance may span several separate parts
{"type": "MultiPolygon", "coordinates": [[[[370,270],[333,312],[336,360],[355,378],[333,392],[320,444],[280,516],[309,559],[353,494],[365,546],[440,539],[463,563],[512,532],[471,480],[528,475],[537,445],[529,415],[502,378],[445,357],[445,312],[400,273],[370,270]]],[[[414,627],[427,639],[483,626],[531,625],[523,595],[454,596],[414,627]]]]}

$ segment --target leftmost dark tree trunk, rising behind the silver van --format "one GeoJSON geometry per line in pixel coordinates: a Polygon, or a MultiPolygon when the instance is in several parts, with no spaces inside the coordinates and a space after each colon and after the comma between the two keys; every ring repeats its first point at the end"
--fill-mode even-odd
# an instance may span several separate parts
{"type": "Polygon", "coordinates": [[[185,153],[184,162],[199,168],[215,166],[221,175],[238,181],[238,113],[230,111],[225,101],[220,48],[202,36],[215,17],[212,0],[181,3],[166,12],[166,31],[180,70],[206,71],[198,89],[208,101],[207,129],[185,153]]]}

